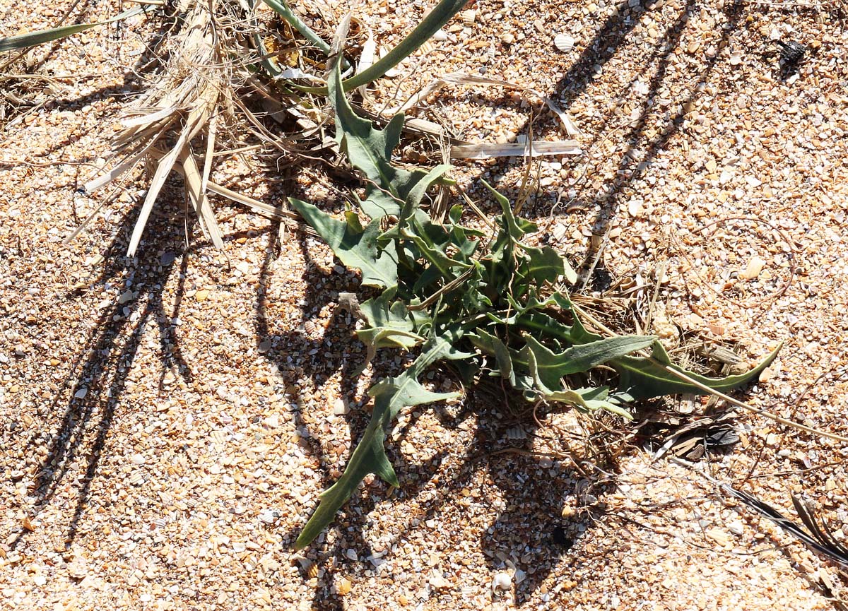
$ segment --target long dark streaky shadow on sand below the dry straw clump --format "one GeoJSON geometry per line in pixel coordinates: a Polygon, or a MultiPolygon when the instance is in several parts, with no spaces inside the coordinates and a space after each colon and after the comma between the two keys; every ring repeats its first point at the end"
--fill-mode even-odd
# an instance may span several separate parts
{"type": "MultiPolygon", "coordinates": [[[[167,202],[169,194],[173,201],[173,192],[168,189],[163,193],[164,202],[167,202]]],[[[167,204],[164,208],[167,210],[167,204]]],[[[65,548],[73,544],[86,512],[92,482],[98,474],[112,425],[120,419],[121,399],[148,326],[153,325],[159,334],[159,388],[163,389],[165,375],[169,372],[187,383],[193,380],[192,369],[183,356],[176,335],[176,319],[185,291],[189,253],[183,253],[181,261],[176,264],[176,252],[180,250],[183,236],[175,224],[162,223],[158,231],[148,233],[149,238],[143,248],[145,253],[157,253],[158,263],[139,265],[137,259],[127,258],[127,228],[131,227],[130,221],[136,215],[135,210],[126,215],[121,223],[122,229],[103,249],[103,268],[96,277],[89,279],[88,286],[91,288],[120,287],[120,296],[102,308],[93,325],[94,332],[77,353],[60,385],[64,392],[57,392],[48,407],[48,412],[61,412],[62,416],[56,430],[48,436],[46,453],[43,453],[44,458],[30,486],[29,511],[32,517],[36,517],[53,499],[62,481],[70,475],[70,470],[75,469],[75,462],[82,460],[83,472],[76,476],[79,485],[74,492],[74,507],[64,533],[65,548]],[[177,297],[169,310],[163,301],[162,291],[175,274],[179,276],[176,281],[177,297]],[[96,432],[92,435],[91,431],[96,432]]],[[[83,298],[88,290],[72,290],[65,298],[73,303],[75,299],[83,298]]],[[[37,455],[44,443],[44,434],[36,427],[24,447],[29,453],[37,455]]],[[[9,548],[17,547],[25,534],[26,530],[20,530],[11,538],[9,548]]]]}

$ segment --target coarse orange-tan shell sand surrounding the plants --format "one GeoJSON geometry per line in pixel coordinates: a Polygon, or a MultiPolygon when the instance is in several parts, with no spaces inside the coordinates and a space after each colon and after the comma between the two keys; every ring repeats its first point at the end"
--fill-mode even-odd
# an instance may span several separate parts
{"type": "MultiPolygon", "coordinates": [[[[47,27],[66,8],[6,0],[0,28],[47,27]]],[[[88,3],[86,19],[115,8],[88,3]]],[[[454,69],[557,99],[584,153],[532,166],[525,214],[550,223],[548,242],[583,269],[597,262],[595,288],[641,300],[652,313],[642,323],[672,349],[718,344],[754,363],[785,342],[745,399],[848,435],[838,7],[470,8],[404,66],[408,78],[372,92],[376,103],[454,69]],[[571,51],[557,35],[572,36],[571,51]],[[806,45],[795,74],[778,65],[775,38],[806,45]]],[[[397,40],[423,7],[350,9],[378,40],[397,40]]],[[[219,200],[226,243],[215,250],[178,181],[137,257],[125,256],[142,175],[108,202],[76,190],[143,86],[152,29],[134,19],[33,53],[31,73],[51,80],[24,93],[50,100],[29,114],[5,107],[0,608],[834,608],[845,578],[833,564],[697,472],[652,462],[656,448],[631,438],[616,473],[581,474],[550,457],[559,431],[578,430],[571,414],[544,414],[539,428],[482,392],[403,414],[389,442],[402,487],[368,483],[295,553],[367,419],[368,380],[351,377],[364,349],[336,308],[356,275],[313,238],[281,240],[277,225],[219,200]]],[[[500,87],[450,88],[420,112],[471,141],[527,135],[531,119],[534,137],[566,137],[538,101],[500,87]]],[[[483,162],[457,175],[475,197],[480,176],[514,196],[526,169],[483,162]]],[[[278,177],[230,158],[214,173],[268,203],[289,193],[278,177]]],[[[374,374],[402,364],[385,355],[374,374]]],[[[844,540],[845,444],[750,414],[734,430],[741,442],[698,469],[791,517],[789,495],[801,495],[844,540]]]]}

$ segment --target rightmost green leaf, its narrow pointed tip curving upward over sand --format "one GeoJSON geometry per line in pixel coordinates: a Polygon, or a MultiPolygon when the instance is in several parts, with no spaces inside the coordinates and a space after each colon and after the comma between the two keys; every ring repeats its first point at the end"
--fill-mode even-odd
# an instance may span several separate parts
{"type": "Polygon", "coordinates": [[[672,364],[671,359],[668,358],[668,354],[660,342],[654,342],[652,345],[651,356],[654,358],[653,361],[650,358],[644,357],[622,357],[612,360],[610,364],[618,372],[618,388],[620,392],[626,393],[633,400],[661,397],[662,395],[670,395],[678,392],[702,395],[706,394],[706,392],[698,386],[680,380],[675,375],[668,373],[661,365],[676,369],[704,386],[709,386],[713,390],[727,392],[737,386],[742,386],[751,380],[755,380],[756,376],[760,375],[763,369],[766,369],[772,364],[782,346],[783,344],[775,348],[774,352],[764,358],[762,363],[758,364],[754,369],[750,369],[750,371],[744,374],[728,375],[723,378],[709,378],[706,375],[699,375],[672,364]]]}

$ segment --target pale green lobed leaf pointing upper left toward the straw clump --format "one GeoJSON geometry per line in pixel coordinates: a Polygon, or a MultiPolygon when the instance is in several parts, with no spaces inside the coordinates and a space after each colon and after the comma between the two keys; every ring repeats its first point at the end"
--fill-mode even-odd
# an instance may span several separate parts
{"type": "Polygon", "coordinates": [[[359,219],[353,213],[345,215],[345,222],[333,219],[311,203],[294,197],[289,197],[288,201],[312,225],[343,264],[361,270],[363,285],[386,288],[398,284],[398,257],[394,243],[388,243],[382,251],[377,246],[379,219],[371,221],[362,229],[359,219]]]}

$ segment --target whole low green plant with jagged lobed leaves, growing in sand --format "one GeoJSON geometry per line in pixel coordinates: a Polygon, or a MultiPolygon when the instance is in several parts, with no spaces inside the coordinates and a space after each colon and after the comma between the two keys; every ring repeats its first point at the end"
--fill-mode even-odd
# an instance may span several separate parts
{"type": "MultiPolygon", "coordinates": [[[[499,375],[528,400],[567,403],[588,414],[605,409],[629,418],[623,407],[628,401],[701,392],[667,372],[671,363],[655,337],[604,338],[587,331],[568,296],[554,288],[563,278],[575,281],[573,269],[554,249],[525,242],[537,226],[516,217],[507,199],[491,186],[501,208],[493,219],[493,236],[486,239],[482,232],[461,225],[459,206],[450,210],[444,224],[434,223],[421,210],[421,199],[429,186],[444,180],[448,167],[410,172],[394,166],[391,154],[399,144],[403,115],[378,130],[354,114],[343,93],[338,63],[328,86],[338,140],[367,181],[359,212],[371,221],[363,228],[352,210],[339,220],[309,203],[290,201],[344,264],[360,269],[363,284],[382,289],[360,308],[366,324],[358,336],[369,349],[369,359],[380,347],[421,346],[421,353],[403,374],[371,388],[371,422],[341,478],[321,495],[296,547],[309,545],[332,522],[366,475],[379,475],[398,486],[383,441],[402,408],[455,397],[428,392],[418,381],[439,361],[455,360],[466,369],[499,375]],[[633,356],[649,348],[650,357],[633,356]],[[600,364],[618,372],[615,390],[570,386],[569,376],[600,364]]],[[[725,390],[753,379],[774,356],[745,375],[717,380],[675,369],[725,390]]]]}

